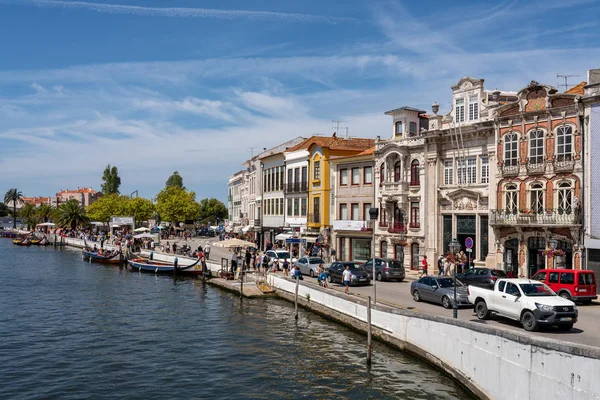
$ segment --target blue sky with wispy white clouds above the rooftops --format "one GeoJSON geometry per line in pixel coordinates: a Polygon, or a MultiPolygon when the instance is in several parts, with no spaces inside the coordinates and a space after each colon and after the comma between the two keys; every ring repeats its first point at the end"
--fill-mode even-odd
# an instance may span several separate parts
{"type": "Polygon", "coordinates": [[[99,190],[111,164],[124,194],[179,171],[224,201],[263,148],[334,120],[387,137],[385,111],[445,113],[463,76],[579,83],[600,67],[598,15],[594,0],[0,0],[0,194],[99,190]]]}

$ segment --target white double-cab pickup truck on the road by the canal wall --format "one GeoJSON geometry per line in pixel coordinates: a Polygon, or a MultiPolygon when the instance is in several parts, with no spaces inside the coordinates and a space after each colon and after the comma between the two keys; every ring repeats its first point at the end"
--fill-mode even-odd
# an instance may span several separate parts
{"type": "Polygon", "coordinates": [[[521,321],[528,331],[542,325],[569,330],[577,322],[575,303],[534,280],[498,279],[493,289],[469,286],[467,295],[479,319],[488,319],[494,313],[521,321]]]}

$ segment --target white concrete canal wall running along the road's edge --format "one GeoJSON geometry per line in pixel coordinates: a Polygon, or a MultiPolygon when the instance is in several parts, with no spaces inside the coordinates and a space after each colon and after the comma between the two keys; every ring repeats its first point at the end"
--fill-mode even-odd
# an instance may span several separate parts
{"type": "MultiPolygon", "coordinates": [[[[269,276],[269,283],[278,290],[294,293],[294,281],[269,276]]],[[[306,299],[307,294],[311,303],[367,320],[366,306],[359,301],[300,285],[299,297],[306,299]]],[[[491,399],[600,399],[598,349],[531,339],[443,317],[419,318],[415,314],[374,307],[371,318],[374,327],[420,349],[429,361],[441,361],[491,399]],[[596,357],[573,354],[573,348],[584,354],[595,353],[596,357]]]]}

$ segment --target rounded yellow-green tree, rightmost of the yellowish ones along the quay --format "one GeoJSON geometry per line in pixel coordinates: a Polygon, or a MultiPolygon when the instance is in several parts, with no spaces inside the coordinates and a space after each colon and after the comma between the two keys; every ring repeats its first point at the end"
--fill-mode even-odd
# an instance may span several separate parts
{"type": "Polygon", "coordinates": [[[156,210],[161,220],[174,224],[200,216],[196,193],[176,186],[167,186],[156,195],[156,210]]]}

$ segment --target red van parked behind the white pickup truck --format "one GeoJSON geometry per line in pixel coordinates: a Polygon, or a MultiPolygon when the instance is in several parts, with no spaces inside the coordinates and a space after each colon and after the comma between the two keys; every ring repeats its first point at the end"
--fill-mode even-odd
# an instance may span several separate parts
{"type": "Polygon", "coordinates": [[[596,300],[596,275],[588,269],[541,269],[531,279],[544,282],[560,297],[582,303],[596,300]]]}

